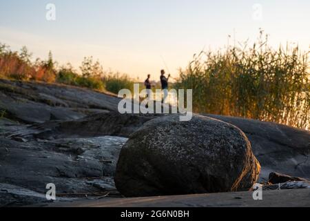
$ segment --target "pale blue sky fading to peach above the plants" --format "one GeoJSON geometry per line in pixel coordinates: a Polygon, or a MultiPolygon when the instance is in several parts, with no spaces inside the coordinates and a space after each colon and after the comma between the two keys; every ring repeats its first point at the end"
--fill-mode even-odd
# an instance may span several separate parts
{"type": "Polygon", "coordinates": [[[203,48],[225,47],[228,35],[254,41],[259,28],[274,47],[289,41],[309,50],[309,11],[309,0],[0,0],[0,42],[27,46],[34,58],[52,50],[76,69],[93,56],[105,70],[139,79],[162,68],[177,77],[203,48]]]}

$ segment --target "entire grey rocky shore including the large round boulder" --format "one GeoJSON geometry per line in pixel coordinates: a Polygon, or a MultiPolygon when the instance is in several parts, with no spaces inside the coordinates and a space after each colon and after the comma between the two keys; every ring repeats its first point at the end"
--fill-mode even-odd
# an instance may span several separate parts
{"type": "MultiPolygon", "coordinates": [[[[169,115],[121,115],[119,101],[72,86],[0,80],[0,206],[50,203],[48,183],[56,185],[55,204],[108,206],[124,195],[246,191],[254,182],[282,183],[292,195],[302,188],[293,200],[309,206],[309,131],[205,114],[185,124],[169,115]]],[[[216,194],[223,206],[234,193],[216,194]]],[[[169,206],[175,198],[162,199],[169,206]]]]}

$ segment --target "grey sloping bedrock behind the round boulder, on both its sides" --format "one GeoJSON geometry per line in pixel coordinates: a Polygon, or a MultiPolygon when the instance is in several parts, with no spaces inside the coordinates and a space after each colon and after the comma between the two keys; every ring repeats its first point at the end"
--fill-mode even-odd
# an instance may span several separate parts
{"type": "MultiPolygon", "coordinates": [[[[45,202],[47,182],[59,184],[60,200],[117,195],[112,176],[123,137],[161,117],[120,115],[119,101],[83,88],[0,79],[0,206],[45,202]]],[[[310,179],[309,131],[210,117],[247,135],[262,166],[259,181],[273,171],[310,179]]]]}

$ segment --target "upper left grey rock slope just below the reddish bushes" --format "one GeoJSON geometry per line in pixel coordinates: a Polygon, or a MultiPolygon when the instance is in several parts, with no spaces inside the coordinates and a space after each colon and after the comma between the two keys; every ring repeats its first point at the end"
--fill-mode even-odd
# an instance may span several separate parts
{"type": "Polygon", "coordinates": [[[0,79],[0,111],[28,124],[117,111],[120,100],[73,86],[0,79]]]}

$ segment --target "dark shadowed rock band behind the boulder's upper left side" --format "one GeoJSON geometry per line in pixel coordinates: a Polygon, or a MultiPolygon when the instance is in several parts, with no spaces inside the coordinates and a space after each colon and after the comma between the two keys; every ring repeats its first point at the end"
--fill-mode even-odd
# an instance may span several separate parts
{"type": "MultiPolygon", "coordinates": [[[[30,128],[37,131],[34,137],[46,140],[63,137],[96,137],[103,135],[129,137],[143,124],[157,115],[121,115],[117,112],[100,113],[87,117],[63,122],[47,122],[32,125],[30,128]]],[[[27,135],[19,134],[22,137],[27,135]]],[[[31,134],[30,134],[31,137],[31,134]]],[[[30,138],[28,137],[28,138],[30,138]]]]}

